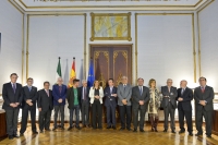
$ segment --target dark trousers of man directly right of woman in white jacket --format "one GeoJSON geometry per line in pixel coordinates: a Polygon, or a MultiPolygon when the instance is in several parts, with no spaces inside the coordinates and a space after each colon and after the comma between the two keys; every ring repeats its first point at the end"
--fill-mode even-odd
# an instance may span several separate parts
{"type": "Polygon", "coordinates": [[[108,126],[116,126],[116,106],[109,104],[106,106],[107,109],[107,125],[108,126]]]}

